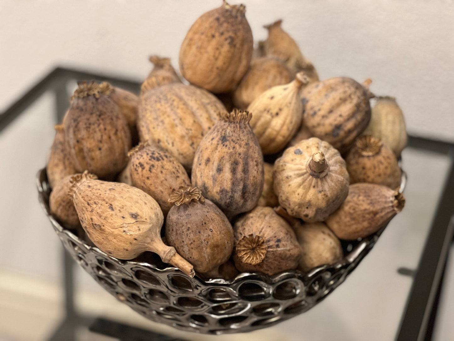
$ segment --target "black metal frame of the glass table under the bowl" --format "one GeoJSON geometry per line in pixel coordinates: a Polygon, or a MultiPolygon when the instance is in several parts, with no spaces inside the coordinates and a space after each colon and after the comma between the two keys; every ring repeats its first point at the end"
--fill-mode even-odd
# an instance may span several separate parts
{"type": "MultiPolygon", "coordinates": [[[[106,80],[112,85],[135,93],[138,93],[140,86],[137,81],[121,77],[57,67],[0,114],[0,133],[48,90],[55,93],[55,120],[61,122],[69,106],[67,84],[71,80],[106,80]]],[[[438,311],[439,296],[443,287],[444,270],[453,239],[454,144],[409,136],[408,145],[419,150],[447,155],[451,160],[444,190],[440,196],[418,268],[415,271],[400,271],[401,273],[409,272],[414,279],[396,340],[419,341],[431,339],[438,311]]],[[[175,340],[168,336],[125,326],[118,322],[80,315],[74,307],[74,261],[67,252],[63,251],[63,253],[66,316],[49,340],[74,340],[74,330],[77,326],[89,326],[92,331],[115,336],[121,340],[175,340]]]]}

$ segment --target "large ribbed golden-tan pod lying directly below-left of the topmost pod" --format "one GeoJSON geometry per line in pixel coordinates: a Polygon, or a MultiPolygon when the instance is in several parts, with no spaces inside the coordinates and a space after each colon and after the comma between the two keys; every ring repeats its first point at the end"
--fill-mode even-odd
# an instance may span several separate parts
{"type": "Polygon", "coordinates": [[[180,83],[159,86],[141,97],[140,140],[166,150],[190,171],[200,141],[221,114],[227,110],[206,90],[180,83]]]}

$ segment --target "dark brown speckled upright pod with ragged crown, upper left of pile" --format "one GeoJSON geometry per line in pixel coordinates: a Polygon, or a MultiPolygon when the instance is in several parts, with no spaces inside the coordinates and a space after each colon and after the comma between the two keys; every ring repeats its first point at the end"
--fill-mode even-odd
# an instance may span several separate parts
{"type": "Polygon", "coordinates": [[[76,171],[113,178],[128,162],[131,133],[120,107],[99,85],[80,83],[64,120],[66,145],[76,171]]]}

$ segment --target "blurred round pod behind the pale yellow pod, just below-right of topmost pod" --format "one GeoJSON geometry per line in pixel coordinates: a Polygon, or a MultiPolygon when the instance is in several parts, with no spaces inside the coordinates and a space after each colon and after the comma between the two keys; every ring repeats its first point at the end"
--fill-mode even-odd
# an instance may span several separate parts
{"type": "Polygon", "coordinates": [[[252,60],[249,70],[233,93],[235,106],[246,109],[259,95],[276,85],[287,84],[292,80],[285,63],[275,57],[252,60]]]}

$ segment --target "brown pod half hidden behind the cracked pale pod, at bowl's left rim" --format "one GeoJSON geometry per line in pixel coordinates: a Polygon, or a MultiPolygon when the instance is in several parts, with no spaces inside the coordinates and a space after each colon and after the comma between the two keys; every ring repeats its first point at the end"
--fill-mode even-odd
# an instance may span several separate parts
{"type": "MultiPolygon", "coordinates": [[[[73,196],[69,193],[72,186],[71,179],[74,176],[82,176],[82,174],[65,176],[57,182],[49,196],[50,213],[68,229],[77,229],[80,226],[79,216],[73,203],[73,196]]],[[[98,179],[94,174],[88,174],[87,177],[89,179],[98,179]]]]}

